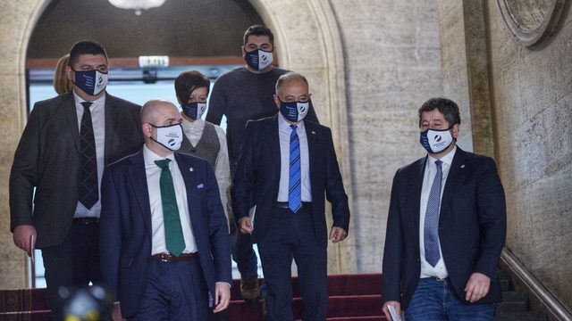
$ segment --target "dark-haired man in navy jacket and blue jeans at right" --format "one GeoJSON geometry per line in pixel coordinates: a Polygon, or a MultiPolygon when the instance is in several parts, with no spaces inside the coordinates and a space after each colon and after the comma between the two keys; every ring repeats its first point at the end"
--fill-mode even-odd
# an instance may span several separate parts
{"type": "Polygon", "coordinates": [[[393,178],[383,253],[383,312],[408,321],[492,320],[506,236],[504,191],[491,158],[455,144],[456,103],[419,109],[428,155],[393,178]]]}

